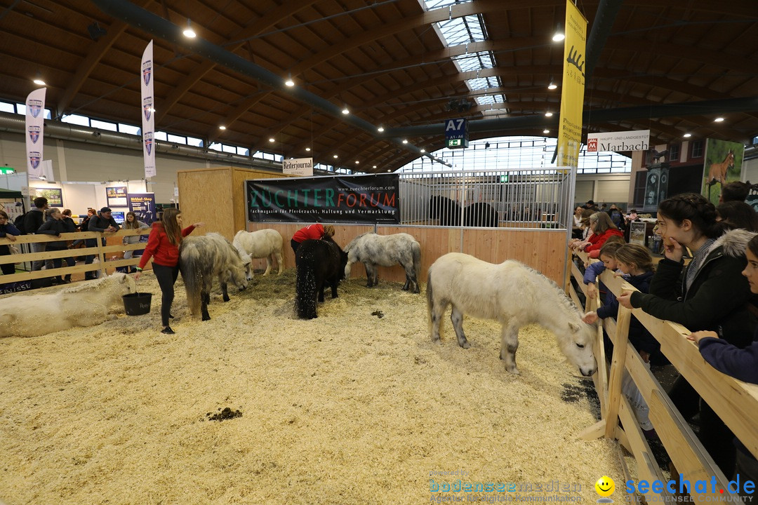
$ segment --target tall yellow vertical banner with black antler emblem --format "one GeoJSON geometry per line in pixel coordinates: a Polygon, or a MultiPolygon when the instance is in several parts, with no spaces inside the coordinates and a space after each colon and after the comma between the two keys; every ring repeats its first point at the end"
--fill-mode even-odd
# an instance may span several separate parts
{"type": "Polygon", "coordinates": [[[558,130],[559,167],[578,167],[581,146],[581,113],[584,108],[584,62],[587,20],[566,0],[561,117],[558,130]]]}

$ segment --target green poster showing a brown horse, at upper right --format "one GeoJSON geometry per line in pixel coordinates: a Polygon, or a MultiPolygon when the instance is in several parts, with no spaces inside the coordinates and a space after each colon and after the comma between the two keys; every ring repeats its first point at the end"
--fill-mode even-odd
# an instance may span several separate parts
{"type": "Polygon", "coordinates": [[[706,142],[703,191],[701,193],[712,204],[719,204],[719,195],[721,195],[721,189],[725,184],[742,179],[744,154],[745,146],[739,142],[716,139],[708,139],[706,142]]]}

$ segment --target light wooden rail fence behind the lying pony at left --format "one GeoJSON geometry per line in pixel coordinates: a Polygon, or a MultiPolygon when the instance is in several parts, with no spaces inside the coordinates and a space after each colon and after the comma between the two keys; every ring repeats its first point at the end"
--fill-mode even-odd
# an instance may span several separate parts
{"type": "MultiPolygon", "coordinates": [[[[36,253],[22,253],[22,254],[9,254],[7,256],[0,256],[0,263],[21,263],[35,260],[52,260],[55,258],[67,258],[75,256],[88,256],[90,254],[97,258],[96,263],[89,265],[82,264],[75,267],[61,266],[61,268],[54,268],[51,270],[37,270],[34,272],[20,272],[13,273],[8,276],[0,276],[0,283],[6,282],[21,282],[29,281],[32,279],[43,279],[52,276],[65,276],[73,273],[86,273],[94,270],[99,270],[100,275],[106,275],[109,271],[113,271],[117,267],[131,267],[139,264],[139,257],[133,257],[128,260],[108,260],[114,253],[121,253],[123,251],[136,251],[144,249],[144,243],[138,244],[121,244],[121,240],[125,236],[133,235],[149,235],[150,229],[120,229],[113,233],[101,233],[101,232],[75,232],[75,233],[61,233],[60,237],[55,235],[18,235],[15,242],[11,242],[8,238],[0,238],[0,245],[16,245],[21,244],[34,244],[45,242],[58,242],[61,240],[85,240],[95,239],[97,245],[95,247],[77,248],[77,249],[65,249],[64,251],[42,251],[36,253]],[[114,242],[112,238],[117,238],[117,244],[102,245],[102,238],[106,240],[111,239],[110,242],[114,242]]],[[[66,265],[66,262],[63,263],[66,265]]]]}

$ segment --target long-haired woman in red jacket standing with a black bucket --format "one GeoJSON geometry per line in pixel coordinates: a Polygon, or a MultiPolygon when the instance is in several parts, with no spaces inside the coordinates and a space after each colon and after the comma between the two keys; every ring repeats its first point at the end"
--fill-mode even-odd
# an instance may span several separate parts
{"type": "Polygon", "coordinates": [[[182,229],[182,214],[179,209],[166,209],[160,223],[152,223],[150,235],[142,259],[139,260],[134,279],[142,275],[142,269],[152,257],[152,271],[158,285],[161,286],[161,333],[174,334],[168,320],[171,318],[171,304],[174,302],[174,282],[179,276],[179,245],[182,238],[192,233],[193,229],[205,226],[205,223],[195,223],[182,229]]]}

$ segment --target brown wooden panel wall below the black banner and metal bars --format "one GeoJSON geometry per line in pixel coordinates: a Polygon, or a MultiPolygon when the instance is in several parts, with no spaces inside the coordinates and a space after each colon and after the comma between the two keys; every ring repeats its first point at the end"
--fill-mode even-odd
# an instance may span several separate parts
{"type": "MultiPolygon", "coordinates": [[[[305,223],[248,223],[248,231],[271,228],[281,233],[284,240],[285,266],[295,266],[295,257],[290,247],[290,238],[305,223]]],[[[371,225],[334,225],[334,240],[343,248],[361,233],[374,231],[371,225]]],[[[518,260],[539,270],[545,276],[562,284],[565,262],[565,230],[553,229],[464,229],[461,248],[461,230],[413,226],[379,226],[380,235],[409,233],[421,244],[420,282],[426,282],[426,273],[431,263],[449,252],[464,252],[490,263],[518,260]]],[[[266,267],[265,260],[255,260],[255,269],[266,267]]],[[[365,277],[360,263],[353,265],[351,277],[365,277]]],[[[400,267],[381,267],[379,278],[405,282],[406,276],[400,267]]]]}

